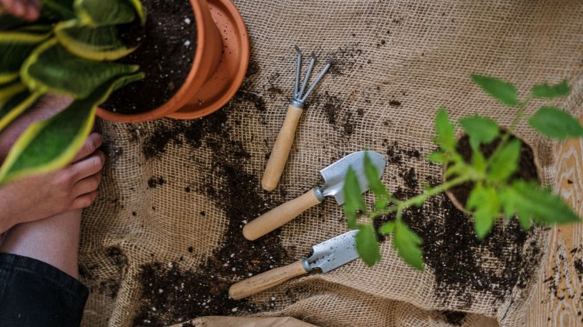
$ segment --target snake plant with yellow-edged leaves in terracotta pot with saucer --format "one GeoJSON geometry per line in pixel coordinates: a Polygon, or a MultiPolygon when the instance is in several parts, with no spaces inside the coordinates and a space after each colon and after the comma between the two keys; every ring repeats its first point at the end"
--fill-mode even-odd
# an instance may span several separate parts
{"type": "Polygon", "coordinates": [[[157,119],[177,110],[176,118],[202,117],[221,108],[245,75],[248,36],[228,0],[41,2],[41,18],[34,23],[0,15],[0,131],[45,94],[69,95],[74,101],[22,134],[0,169],[0,184],[66,165],[89,134],[96,113],[125,122],[157,119]],[[232,34],[229,42],[236,43],[237,51],[223,53],[221,39],[229,37],[221,35],[209,8],[221,16],[217,21],[232,34]],[[177,35],[173,31],[183,29],[186,34],[172,38],[177,35]],[[157,47],[166,52],[153,51],[157,47]],[[182,50],[181,57],[170,57],[168,51],[176,49],[182,50]],[[182,80],[168,79],[179,75],[178,70],[182,80]],[[157,81],[167,82],[164,93],[153,91],[160,86],[157,81]],[[132,88],[124,93],[127,86],[132,88]],[[101,104],[105,108],[98,108],[101,104]]]}

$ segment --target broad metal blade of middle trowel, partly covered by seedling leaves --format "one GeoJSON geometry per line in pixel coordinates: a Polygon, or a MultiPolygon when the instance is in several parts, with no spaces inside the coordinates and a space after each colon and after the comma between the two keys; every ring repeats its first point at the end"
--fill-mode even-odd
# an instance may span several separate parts
{"type": "Polygon", "coordinates": [[[344,176],[347,174],[349,167],[352,167],[356,172],[360,190],[363,193],[369,191],[369,182],[366,181],[366,175],[364,175],[364,154],[369,154],[369,158],[377,168],[378,178],[380,179],[384,173],[386,158],[382,154],[373,151],[354,152],[320,170],[325,181],[324,185],[320,187],[322,195],[332,195],[339,206],[344,204],[342,187],[344,186],[344,176]]]}

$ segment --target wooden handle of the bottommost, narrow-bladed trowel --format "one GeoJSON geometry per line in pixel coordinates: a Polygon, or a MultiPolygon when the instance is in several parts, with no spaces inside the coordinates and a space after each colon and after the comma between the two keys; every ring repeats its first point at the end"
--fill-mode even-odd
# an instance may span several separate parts
{"type": "Polygon", "coordinates": [[[265,271],[263,274],[233,284],[229,289],[229,295],[234,300],[241,300],[242,298],[247,298],[248,296],[277,286],[289,280],[289,278],[303,274],[307,274],[307,271],[305,271],[300,260],[291,265],[265,271]]]}

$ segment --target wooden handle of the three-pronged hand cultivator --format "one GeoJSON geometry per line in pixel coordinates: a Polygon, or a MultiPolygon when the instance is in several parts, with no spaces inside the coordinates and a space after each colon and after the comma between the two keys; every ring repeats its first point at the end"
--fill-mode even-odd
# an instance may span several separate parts
{"type": "Polygon", "coordinates": [[[275,189],[281,178],[281,173],[289,156],[289,150],[292,149],[292,143],[294,143],[296,127],[302,116],[302,111],[303,109],[292,105],[287,108],[285,121],[283,121],[281,130],[279,130],[272,154],[270,155],[270,159],[267,160],[267,167],[265,167],[263,179],[261,179],[261,186],[263,186],[265,191],[275,189]]]}

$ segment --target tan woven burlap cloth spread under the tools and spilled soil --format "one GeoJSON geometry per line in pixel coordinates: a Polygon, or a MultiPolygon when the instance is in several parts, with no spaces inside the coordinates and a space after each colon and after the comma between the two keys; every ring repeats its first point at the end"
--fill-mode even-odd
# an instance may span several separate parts
{"type": "MultiPolygon", "coordinates": [[[[249,154],[241,173],[258,177],[258,192],[266,155],[292,95],[293,45],[306,53],[316,51],[321,58],[316,70],[328,56],[336,60],[336,68],[303,113],[281,184],[269,195],[273,205],[317,186],[317,172],[334,160],[364,148],[386,154],[387,144],[394,142],[421,149],[421,159],[410,160],[407,166],[420,179],[434,176],[439,180],[441,167],[422,159],[435,148],[433,122],[439,106],[448,107],[454,119],[479,113],[508,125],[514,118],[514,110],[472,84],[470,73],[509,80],[521,97],[533,84],[566,78],[573,84],[573,94],[556,104],[573,114],[582,106],[577,84],[583,67],[581,1],[234,3],[248,26],[252,63],[259,69],[245,81],[245,92],[263,99],[265,110],[258,110],[252,101],[230,104],[224,109],[229,132],[221,137],[239,142],[249,154]],[[326,110],[327,101],[336,101],[336,111],[326,110]]],[[[536,108],[536,104],[529,106],[527,113],[536,108]]],[[[181,258],[180,269],[197,271],[225,241],[225,208],[197,191],[207,183],[220,189],[223,182],[211,173],[217,156],[204,142],[205,136],[196,149],[179,135],[159,156],[144,156],[146,136],[171,123],[98,121],[98,130],[107,139],[109,161],[98,199],[83,215],[80,267],[90,272],[93,279],[84,281],[94,286],[83,326],[131,326],[142,305],[142,285],[137,281],[141,265],[181,258]],[[148,188],[151,176],[164,176],[166,182],[148,188]],[[186,186],[193,191],[185,192],[186,186]],[[198,214],[201,211],[204,217],[198,214]],[[192,252],[186,252],[189,246],[192,252]],[[107,254],[111,247],[123,254],[121,268],[107,254]],[[102,290],[111,284],[115,292],[100,291],[100,286],[102,290]]],[[[553,143],[540,138],[526,123],[518,126],[516,135],[538,156],[543,184],[553,186],[553,143]]],[[[382,180],[392,191],[402,186],[399,167],[389,164],[382,180]]],[[[255,217],[259,215],[258,210],[255,217]]],[[[443,215],[434,212],[426,219],[439,226],[443,215]]],[[[329,199],[284,226],[279,238],[283,247],[294,249],[292,259],[297,260],[308,254],[311,245],[344,231],[342,210],[329,199]]],[[[546,240],[546,232],[531,232],[522,250],[538,245],[544,255],[546,240]]],[[[436,291],[433,269],[427,267],[421,273],[408,267],[390,239],[383,243],[382,255],[382,262],[373,268],[354,261],[329,274],[298,278],[255,295],[250,301],[257,304],[272,296],[278,299],[270,310],[255,314],[291,316],[317,326],[450,326],[440,313],[449,310],[467,313],[464,326],[524,326],[532,280],[540,274],[535,267],[526,285],[509,289],[502,299],[487,289],[472,291],[470,303],[459,290],[436,291]]],[[[483,256],[480,262],[491,266],[492,274],[503,274],[506,265],[520,264],[489,261],[487,253],[483,256]]]]}

